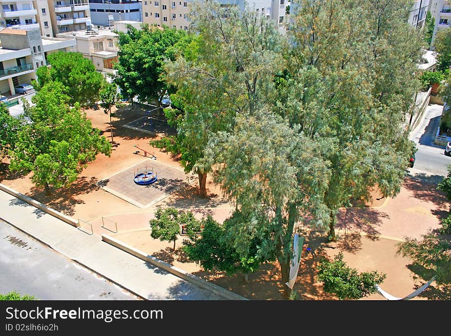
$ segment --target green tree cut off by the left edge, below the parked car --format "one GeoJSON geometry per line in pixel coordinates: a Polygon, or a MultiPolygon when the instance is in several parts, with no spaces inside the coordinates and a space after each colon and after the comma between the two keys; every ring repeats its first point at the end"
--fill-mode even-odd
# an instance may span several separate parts
{"type": "Polygon", "coordinates": [[[16,119],[9,114],[4,103],[0,103],[0,159],[8,156],[17,141],[17,132],[25,124],[23,119],[16,119]]]}

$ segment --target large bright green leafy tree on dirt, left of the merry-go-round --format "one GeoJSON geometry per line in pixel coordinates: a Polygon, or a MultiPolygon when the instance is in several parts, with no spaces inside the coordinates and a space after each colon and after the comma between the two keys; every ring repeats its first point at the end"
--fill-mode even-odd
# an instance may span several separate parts
{"type": "Polygon", "coordinates": [[[57,189],[73,183],[98,153],[111,154],[111,144],[81,114],[78,104],[68,105],[69,99],[60,83],[52,81],[32,98],[35,106],[24,102],[31,123],[19,129],[10,151],[10,169],[33,172],[31,180],[44,186],[46,195],[50,185],[57,189]]]}

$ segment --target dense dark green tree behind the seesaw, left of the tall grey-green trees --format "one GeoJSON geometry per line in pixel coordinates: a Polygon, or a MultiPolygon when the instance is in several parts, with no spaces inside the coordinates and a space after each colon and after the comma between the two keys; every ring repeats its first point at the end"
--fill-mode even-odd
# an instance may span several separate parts
{"type": "Polygon", "coordinates": [[[129,27],[127,33],[119,32],[119,61],[115,83],[125,97],[132,100],[137,96],[141,102],[155,100],[160,107],[161,100],[169,86],[162,77],[163,63],[174,60],[177,50],[173,48],[186,37],[183,30],[142,25],[140,30],[129,27]]]}

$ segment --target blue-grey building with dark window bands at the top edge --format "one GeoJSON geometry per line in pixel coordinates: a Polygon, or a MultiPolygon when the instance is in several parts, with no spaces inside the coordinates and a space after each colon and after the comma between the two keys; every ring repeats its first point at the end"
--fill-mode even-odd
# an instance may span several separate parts
{"type": "Polygon", "coordinates": [[[89,0],[93,25],[109,26],[113,21],[141,21],[141,3],[138,0],[89,0]],[[111,17],[112,16],[112,17],[111,17]]]}

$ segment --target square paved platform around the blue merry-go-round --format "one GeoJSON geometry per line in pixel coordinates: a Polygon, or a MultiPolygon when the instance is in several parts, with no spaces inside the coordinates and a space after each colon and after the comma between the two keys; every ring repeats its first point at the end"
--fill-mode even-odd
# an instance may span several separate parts
{"type": "Polygon", "coordinates": [[[99,181],[97,185],[129,203],[145,209],[186,185],[189,182],[188,177],[181,169],[157,160],[146,159],[99,181]],[[157,173],[157,182],[147,186],[135,184],[133,181],[135,172],[146,166],[152,167],[153,171],[157,173]]]}

